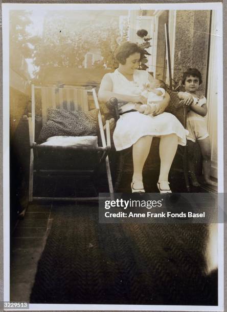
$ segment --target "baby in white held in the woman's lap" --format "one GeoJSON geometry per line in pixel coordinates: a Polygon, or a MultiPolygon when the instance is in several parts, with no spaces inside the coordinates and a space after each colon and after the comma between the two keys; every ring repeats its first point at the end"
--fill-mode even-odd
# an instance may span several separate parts
{"type": "Polygon", "coordinates": [[[162,87],[166,86],[161,80],[154,80],[151,83],[144,84],[141,95],[147,98],[147,104],[136,104],[135,110],[145,115],[153,116],[153,113],[157,109],[157,104],[163,100],[166,93],[162,87]]]}

